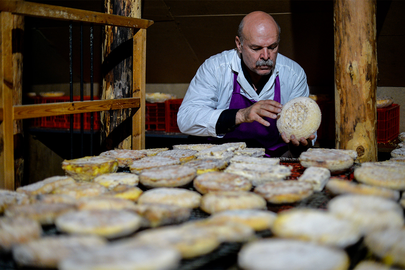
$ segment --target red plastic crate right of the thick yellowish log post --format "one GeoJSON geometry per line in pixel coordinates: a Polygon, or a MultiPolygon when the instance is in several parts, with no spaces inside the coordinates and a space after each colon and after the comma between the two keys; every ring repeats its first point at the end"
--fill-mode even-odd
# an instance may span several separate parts
{"type": "Polygon", "coordinates": [[[399,135],[399,105],[377,108],[377,142],[389,142],[399,135]]]}

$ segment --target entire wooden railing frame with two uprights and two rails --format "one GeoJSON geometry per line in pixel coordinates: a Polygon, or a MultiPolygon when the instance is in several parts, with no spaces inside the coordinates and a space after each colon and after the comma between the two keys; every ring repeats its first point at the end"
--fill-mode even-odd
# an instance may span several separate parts
{"type": "Polygon", "coordinates": [[[0,11],[0,120],[2,121],[0,129],[3,135],[3,138],[0,138],[2,139],[0,141],[0,188],[14,189],[13,125],[15,120],[139,108],[132,118],[132,149],[145,148],[146,28],[151,26],[153,21],[13,0],[0,1],[0,11]],[[13,15],[133,28],[132,98],[13,106],[13,15]]]}

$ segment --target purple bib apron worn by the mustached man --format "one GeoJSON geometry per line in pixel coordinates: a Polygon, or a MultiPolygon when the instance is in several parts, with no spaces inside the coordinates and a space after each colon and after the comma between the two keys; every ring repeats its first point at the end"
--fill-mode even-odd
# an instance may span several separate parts
{"type": "MultiPolygon", "coordinates": [[[[241,85],[237,81],[238,74],[233,75],[233,92],[230,98],[230,109],[243,109],[252,106],[257,101],[249,100],[249,98],[241,94],[241,85]]],[[[281,102],[280,80],[276,77],[274,100],[281,102]]],[[[234,131],[228,132],[223,138],[240,139],[240,140],[256,140],[264,149],[266,149],[266,157],[279,157],[288,151],[288,145],[281,139],[277,129],[277,119],[264,117],[264,120],[270,123],[269,127],[262,125],[257,121],[252,123],[241,123],[234,131]]]]}

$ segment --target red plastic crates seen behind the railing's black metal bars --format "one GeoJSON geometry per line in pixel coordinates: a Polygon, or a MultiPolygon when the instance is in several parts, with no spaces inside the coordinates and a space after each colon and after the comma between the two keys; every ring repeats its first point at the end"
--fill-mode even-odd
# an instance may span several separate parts
{"type": "MultiPolygon", "coordinates": [[[[34,97],[34,104],[41,103],[54,103],[54,102],[69,102],[70,97],[61,96],[61,97],[34,97]]],[[[98,97],[94,97],[94,100],[98,100],[98,97]]],[[[83,100],[90,100],[90,96],[84,96],[83,100]]],[[[74,96],[73,101],[80,101],[80,96],[74,96]]],[[[73,129],[80,129],[80,113],[73,114],[73,129]]],[[[100,112],[93,113],[95,130],[100,129],[100,112]]],[[[83,113],[83,128],[85,130],[90,130],[91,125],[91,113],[83,113]]],[[[32,122],[34,126],[41,128],[70,128],[70,115],[56,115],[56,116],[47,116],[47,117],[38,117],[35,118],[32,122]]]]}

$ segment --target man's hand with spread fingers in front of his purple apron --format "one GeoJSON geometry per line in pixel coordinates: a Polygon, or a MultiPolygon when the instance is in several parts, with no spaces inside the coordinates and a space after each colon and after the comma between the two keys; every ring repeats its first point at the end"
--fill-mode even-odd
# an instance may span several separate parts
{"type": "Polygon", "coordinates": [[[258,121],[262,125],[269,126],[270,123],[263,117],[276,119],[282,107],[283,105],[274,100],[260,100],[250,107],[240,109],[236,114],[235,125],[258,121]]]}

